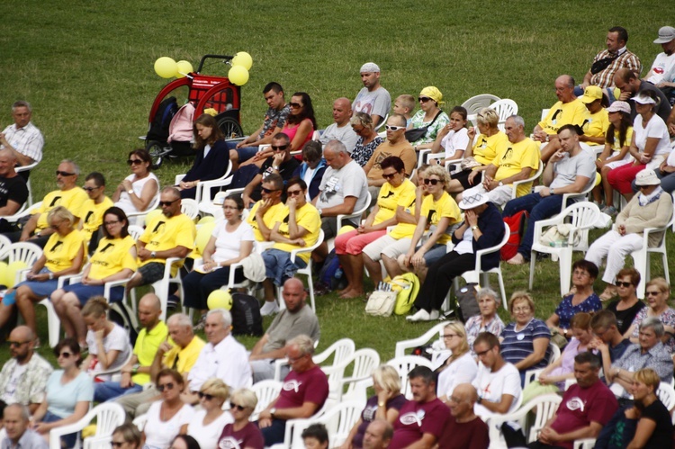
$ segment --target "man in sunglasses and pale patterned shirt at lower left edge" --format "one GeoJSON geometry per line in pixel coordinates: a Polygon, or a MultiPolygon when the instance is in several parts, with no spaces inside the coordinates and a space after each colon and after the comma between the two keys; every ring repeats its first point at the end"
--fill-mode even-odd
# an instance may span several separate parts
{"type": "Polygon", "coordinates": [[[14,328],[6,343],[12,358],[0,371],[0,400],[23,404],[35,413],[44,399],[51,365],[35,354],[35,335],[28,326],[14,328]]]}

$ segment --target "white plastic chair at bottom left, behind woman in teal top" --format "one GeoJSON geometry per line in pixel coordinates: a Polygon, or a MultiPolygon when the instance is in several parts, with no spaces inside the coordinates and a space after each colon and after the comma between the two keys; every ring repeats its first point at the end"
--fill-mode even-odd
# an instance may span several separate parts
{"type": "Polygon", "coordinates": [[[89,412],[79,421],[67,426],[55,427],[49,431],[49,449],[61,448],[61,436],[79,433],[83,428],[96,419],[96,431],[94,436],[88,436],[80,444],[80,437],[77,436],[76,447],[84,449],[107,449],[111,445],[112,431],[124,424],[124,409],[120,404],[114,402],[103,402],[89,412]]]}

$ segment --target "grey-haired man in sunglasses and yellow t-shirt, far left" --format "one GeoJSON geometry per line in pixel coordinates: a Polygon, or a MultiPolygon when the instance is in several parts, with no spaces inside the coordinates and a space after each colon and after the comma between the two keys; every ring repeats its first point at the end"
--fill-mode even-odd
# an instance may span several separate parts
{"type": "Polygon", "coordinates": [[[13,242],[28,241],[44,247],[49,236],[55,232],[47,222],[47,214],[57,206],[63,206],[70,211],[76,220],[73,224],[76,225],[82,213],[82,205],[89,199],[85,190],[77,186],[79,174],[80,169],[75,162],[68,159],[62,160],[56,171],[58,190],[44,196],[40,208],[31,215],[22,230],[8,232],[5,235],[13,242]]]}

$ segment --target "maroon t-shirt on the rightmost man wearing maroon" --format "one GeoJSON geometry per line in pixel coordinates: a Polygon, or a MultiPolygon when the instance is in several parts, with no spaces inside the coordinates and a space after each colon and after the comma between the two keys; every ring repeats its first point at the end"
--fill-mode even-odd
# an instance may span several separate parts
{"type": "MultiPolygon", "coordinates": [[[[551,427],[559,434],[590,425],[595,421],[605,426],[618,409],[617,398],[604,383],[598,381],[589,388],[573,384],[563,395],[551,427]]],[[[574,442],[560,442],[557,445],[572,449],[574,442]]]]}

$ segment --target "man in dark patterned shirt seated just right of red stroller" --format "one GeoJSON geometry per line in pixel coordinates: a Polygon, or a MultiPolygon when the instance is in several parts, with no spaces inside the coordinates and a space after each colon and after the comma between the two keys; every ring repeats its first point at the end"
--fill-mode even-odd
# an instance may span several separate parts
{"type": "Polygon", "coordinates": [[[226,142],[229,149],[229,160],[232,162],[232,172],[237,170],[239,164],[256,156],[261,145],[270,143],[272,136],[281,132],[286,117],[291,112],[291,108],[284,100],[284,89],[279,83],[268,83],[263,88],[263,95],[265,95],[265,102],[269,108],[265,112],[265,119],[260,128],[237,144],[226,142]]]}

